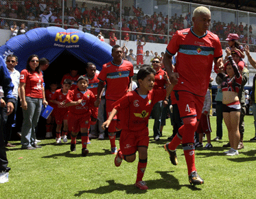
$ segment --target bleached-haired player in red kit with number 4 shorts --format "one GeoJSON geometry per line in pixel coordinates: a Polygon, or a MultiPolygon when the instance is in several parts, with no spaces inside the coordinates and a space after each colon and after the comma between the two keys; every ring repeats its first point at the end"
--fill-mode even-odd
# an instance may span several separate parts
{"type": "Polygon", "coordinates": [[[170,143],[165,144],[165,150],[170,154],[172,164],[177,165],[176,148],[182,143],[187,162],[189,183],[201,185],[204,180],[196,171],[194,154],[194,132],[198,119],[202,114],[202,106],[209,86],[213,61],[222,69],[222,47],[216,34],[208,31],[211,22],[211,12],[200,6],[193,12],[194,27],[179,30],[172,36],[167,45],[163,64],[174,86],[172,102],[178,105],[183,119],[183,126],[170,143]],[[172,71],[172,56],[177,53],[177,62],[172,71]]]}

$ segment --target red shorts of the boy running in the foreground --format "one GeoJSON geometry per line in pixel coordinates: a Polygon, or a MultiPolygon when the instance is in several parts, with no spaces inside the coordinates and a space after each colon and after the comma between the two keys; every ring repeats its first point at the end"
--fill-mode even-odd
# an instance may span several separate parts
{"type": "Polygon", "coordinates": [[[148,128],[141,131],[122,130],[119,145],[121,152],[125,156],[135,154],[139,146],[148,148],[150,137],[148,137],[148,128]]]}

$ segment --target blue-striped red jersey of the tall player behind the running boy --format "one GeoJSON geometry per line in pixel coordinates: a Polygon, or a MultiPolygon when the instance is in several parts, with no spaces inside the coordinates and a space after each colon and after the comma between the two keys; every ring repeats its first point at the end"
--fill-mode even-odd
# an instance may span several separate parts
{"type": "Polygon", "coordinates": [[[102,66],[97,77],[101,82],[106,81],[106,100],[119,100],[129,89],[130,78],[133,76],[133,65],[123,60],[121,65],[108,62],[102,66]]]}

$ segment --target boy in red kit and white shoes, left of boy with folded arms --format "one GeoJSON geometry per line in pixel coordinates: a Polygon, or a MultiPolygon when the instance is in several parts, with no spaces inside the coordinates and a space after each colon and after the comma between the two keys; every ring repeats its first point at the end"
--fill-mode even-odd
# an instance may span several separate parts
{"type": "Polygon", "coordinates": [[[55,120],[56,120],[56,143],[61,143],[61,139],[63,142],[67,142],[67,115],[69,112],[69,107],[65,105],[65,101],[67,99],[67,93],[72,85],[72,80],[66,79],[62,84],[62,89],[58,89],[54,96],[51,98],[54,104],[57,104],[55,111],[55,120]],[[63,122],[63,130],[62,130],[62,137],[60,137],[60,132],[62,128],[63,122]]]}

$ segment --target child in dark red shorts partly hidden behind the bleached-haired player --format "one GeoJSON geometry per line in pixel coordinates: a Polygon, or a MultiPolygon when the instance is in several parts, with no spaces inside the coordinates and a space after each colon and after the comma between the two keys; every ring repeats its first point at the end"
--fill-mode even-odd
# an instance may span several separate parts
{"type": "Polygon", "coordinates": [[[202,107],[202,115],[200,117],[200,121],[198,124],[198,129],[196,132],[199,134],[199,142],[195,144],[196,148],[202,147],[202,136],[205,133],[207,136],[207,144],[205,145],[205,149],[213,148],[213,145],[211,145],[211,123],[210,123],[210,117],[209,112],[211,110],[211,83],[209,83],[209,88],[207,90],[207,93],[205,95],[205,102],[204,106],[202,107]]]}

